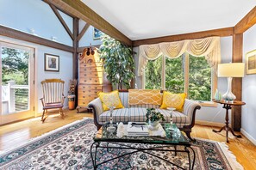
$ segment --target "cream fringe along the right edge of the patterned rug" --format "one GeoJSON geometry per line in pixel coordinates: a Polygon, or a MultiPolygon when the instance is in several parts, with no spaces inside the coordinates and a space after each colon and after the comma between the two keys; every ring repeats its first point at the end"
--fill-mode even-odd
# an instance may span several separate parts
{"type": "Polygon", "coordinates": [[[226,143],[220,143],[218,142],[219,146],[221,147],[223,154],[228,159],[228,162],[232,169],[234,170],[243,170],[244,167],[240,165],[238,161],[236,161],[235,155],[228,149],[228,145],[226,143]]]}

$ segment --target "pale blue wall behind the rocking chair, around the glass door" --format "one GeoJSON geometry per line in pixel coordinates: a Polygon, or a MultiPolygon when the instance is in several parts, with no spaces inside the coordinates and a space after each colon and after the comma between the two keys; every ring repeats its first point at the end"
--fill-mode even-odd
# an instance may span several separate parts
{"type": "MultiPolygon", "coordinates": [[[[11,42],[18,45],[30,46],[35,49],[35,65],[34,65],[34,74],[35,74],[35,114],[42,112],[41,106],[41,81],[46,78],[60,78],[65,81],[64,94],[67,96],[69,80],[72,79],[72,53],[64,52],[61,50],[53,49],[47,46],[36,45],[34,43],[28,43],[26,41],[11,39],[8,37],[0,36],[0,40],[4,42],[11,42]],[[44,54],[50,53],[59,56],[59,72],[50,72],[44,70],[44,54]]],[[[65,100],[64,106],[67,106],[67,99],[65,100]]]]}

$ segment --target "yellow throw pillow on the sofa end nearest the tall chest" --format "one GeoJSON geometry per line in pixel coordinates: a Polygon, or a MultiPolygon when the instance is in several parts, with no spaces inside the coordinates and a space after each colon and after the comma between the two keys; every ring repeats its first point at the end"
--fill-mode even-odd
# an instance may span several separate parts
{"type": "Polygon", "coordinates": [[[124,106],[122,106],[118,90],[110,93],[98,92],[97,95],[103,103],[103,111],[108,111],[110,106],[115,106],[116,109],[124,108],[124,106]]]}

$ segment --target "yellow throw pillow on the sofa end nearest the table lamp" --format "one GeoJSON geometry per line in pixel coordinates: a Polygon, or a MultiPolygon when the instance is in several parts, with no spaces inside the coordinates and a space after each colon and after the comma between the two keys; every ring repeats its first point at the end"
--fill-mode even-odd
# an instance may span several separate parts
{"type": "Polygon", "coordinates": [[[183,112],[184,100],[186,98],[186,94],[172,94],[171,92],[164,92],[163,94],[163,102],[160,106],[161,109],[165,109],[167,107],[174,107],[177,111],[183,112]]]}

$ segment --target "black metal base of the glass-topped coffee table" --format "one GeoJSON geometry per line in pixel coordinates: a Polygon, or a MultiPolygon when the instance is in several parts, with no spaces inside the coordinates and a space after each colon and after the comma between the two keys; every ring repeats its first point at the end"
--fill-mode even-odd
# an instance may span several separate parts
{"type": "MultiPolygon", "coordinates": [[[[189,167],[190,169],[194,169],[194,165],[195,165],[195,160],[196,160],[196,154],[195,154],[195,151],[194,149],[192,149],[190,146],[184,146],[184,145],[180,145],[180,146],[184,146],[184,150],[182,149],[177,149],[177,145],[160,145],[160,146],[154,146],[152,148],[147,148],[147,149],[143,149],[143,148],[135,148],[135,147],[131,147],[129,145],[126,145],[126,144],[123,144],[123,143],[111,143],[111,144],[115,144],[117,146],[109,146],[110,143],[108,143],[106,146],[103,146],[101,145],[101,142],[95,142],[95,143],[92,143],[91,144],[91,161],[92,161],[92,165],[93,165],[93,168],[94,169],[97,169],[97,166],[99,165],[102,165],[106,162],[109,162],[109,161],[113,161],[113,160],[116,160],[118,158],[121,158],[122,156],[125,156],[125,155],[132,155],[134,153],[137,153],[137,152],[143,152],[145,154],[148,154],[148,155],[153,155],[154,157],[157,157],[159,158],[160,160],[162,161],[166,161],[176,167],[179,167],[180,169],[184,169],[184,167],[180,167],[178,166],[177,164],[171,162],[171,161],[168,161],[164,158],[161,158],[159,157],[158,155],[154,155],[148,151],[169,151],[169,152],[174,152],[175,156],[177,155],[177,153],[186,153],[188,155],[188,160],[189,160],[189,167]],[[174,149],[168,149],[170,147],[174,147],[174,149]],[[94,153],[93,153],[93,147],[95,147],[95,150],[94,150],[94,153]],[[133,150],[131,152],[128,152],[128,153],[125,153],[123,155],[118,155],[116,156],[115,158],[111,158],[109,160],[106,160],[106,161],[103,161],[103,162],[97,162],[97,149],[126,149],[126,150],[133,150]],[[192,152],[190,152],[192,151],[192,152]],[[190,153],[193,155],[192,157],[192,160],[190,158],[190,153]]],[[[156,145],[155,143],[153,145],[156,145]]]]}

